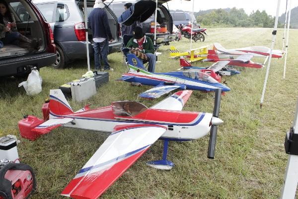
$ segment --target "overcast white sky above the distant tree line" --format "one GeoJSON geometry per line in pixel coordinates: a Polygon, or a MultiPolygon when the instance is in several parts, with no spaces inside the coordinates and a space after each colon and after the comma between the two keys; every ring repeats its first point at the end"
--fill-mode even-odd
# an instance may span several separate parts
{"type": "MultiPolygon", "coordinates": [[[[111,1],[111,0],[107,0],[111,1]]],[[[133,0],[114,0],[116,1],[133,1],[133,0]]],[[[195,0],[194,11],[206,10],[206,9],[218,9],[226,7],[243,8],[247,14],[250,14],[252,10],[266,10],[266,12],[272,16],[276,15],[278,0],[195,0]]],[[[291,0],[292,8],[298,6],[298,0],[291,0]]],[[[286,11],[287,0],[281,0],[281,7],[279,15],[282,15],[286,11]]],[[[168,1],[169,9],[176,10],[182,9],[184,11],[192,11],[193,0],[170,0],[168,1]]],[[[166,3],[164,5],[167,7],[166,3]]]]}

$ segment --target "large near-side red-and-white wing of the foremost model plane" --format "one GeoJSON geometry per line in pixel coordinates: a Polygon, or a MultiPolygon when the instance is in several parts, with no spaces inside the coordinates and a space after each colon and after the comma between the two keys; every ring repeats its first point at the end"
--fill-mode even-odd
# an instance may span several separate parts
{"type": "Polygon", "coordinates": [[[116,126],[61,193],[74,199],[97,199],[166,131],[159,125],[116,126]]]}

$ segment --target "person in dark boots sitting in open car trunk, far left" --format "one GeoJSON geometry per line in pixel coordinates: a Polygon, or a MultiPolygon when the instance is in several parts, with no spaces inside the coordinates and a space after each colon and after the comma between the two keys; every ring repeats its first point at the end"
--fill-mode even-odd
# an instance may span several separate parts
{"type": "Polygon", "coordinates": [[[6,44],[15,44],[27,48],[29,52],[39,49],[36,39],[29,39],[17,32],[15,19],[7,2],[0,0],[0,48],[6,44]]]}

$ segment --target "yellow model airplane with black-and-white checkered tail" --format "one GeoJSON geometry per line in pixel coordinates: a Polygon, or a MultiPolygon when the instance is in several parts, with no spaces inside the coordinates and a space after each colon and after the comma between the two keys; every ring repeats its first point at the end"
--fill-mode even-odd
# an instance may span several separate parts
{"type": "Polygon", "coordinates": [[[206,59],[208,55],[208,46],[202,46],[186,52],[179,52],[174,46],[170,46],[170,57],[171,59],[184,58],[188,62],[195,62],[206,59]]]}

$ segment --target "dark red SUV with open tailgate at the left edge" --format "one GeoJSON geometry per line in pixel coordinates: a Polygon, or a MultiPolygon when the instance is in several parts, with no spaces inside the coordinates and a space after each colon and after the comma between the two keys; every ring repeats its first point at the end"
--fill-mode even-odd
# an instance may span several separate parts
{"type": "Polygon", "coordinates": [[[9,44],[0,52],[0,77],[25,77],[32,67],[38,69],[51,65],[56,60],[53,32],[45,18],[31,0],[6,0],[14,15],[18,31],[29,39],[40,40],[40,49],[29,52],[28,49],[9,44]]]}

